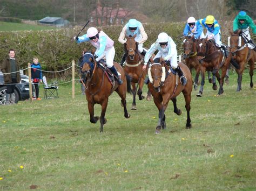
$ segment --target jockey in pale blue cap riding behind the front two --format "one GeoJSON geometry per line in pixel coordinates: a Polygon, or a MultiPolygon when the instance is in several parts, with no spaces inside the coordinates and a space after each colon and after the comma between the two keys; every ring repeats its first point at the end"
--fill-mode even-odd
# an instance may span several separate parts
{"type": "MultiPolygon", "coordinates": [[[[145,56],[146,51],[143,49],[143,43],[147,40],[147,34],[144,30],[142,23],[140,23],[136,19],[130,19],[129,22],[123,27],[122,32],[118,38],[118,41],[121,44],[126,43],[125,34],[129,37],[133,37],[136,34],[135,41],[139,43],[138,50],[139,52],[145,56]]],[[[126,59],[126,53],[124,53],[123,58],[120,62],[120,65],[123,66],[123,63],[126,59]]]]}

